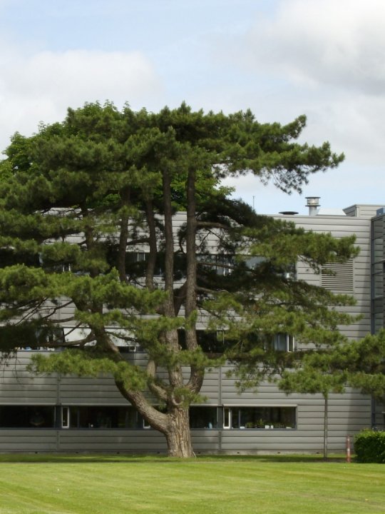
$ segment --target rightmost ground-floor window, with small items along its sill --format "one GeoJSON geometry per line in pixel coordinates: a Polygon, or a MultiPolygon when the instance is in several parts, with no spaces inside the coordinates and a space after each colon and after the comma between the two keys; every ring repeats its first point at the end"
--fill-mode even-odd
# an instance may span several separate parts
{"type": "Polygon", "coordinates": [[[225,407],[223,428],[296,428],[296,407],[225,407]]]}

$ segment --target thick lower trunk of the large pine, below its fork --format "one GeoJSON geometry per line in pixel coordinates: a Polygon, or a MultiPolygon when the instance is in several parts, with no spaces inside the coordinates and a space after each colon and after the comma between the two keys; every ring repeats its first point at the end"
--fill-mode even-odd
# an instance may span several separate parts
{"type": "Polygon", "coordinates": [[[173,408],[168,413],[168,430],[165,432],[169,457],[193,457],[188,409],[173,408]]]}

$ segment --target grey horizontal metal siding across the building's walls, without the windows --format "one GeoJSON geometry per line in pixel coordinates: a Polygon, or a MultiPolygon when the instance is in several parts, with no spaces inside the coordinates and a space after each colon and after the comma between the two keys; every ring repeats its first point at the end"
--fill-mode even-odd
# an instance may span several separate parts
{"type": "MultiPolygon", "coordinates": [[[[287,218],[297,226],[314,232],[330,232],[333,236],[356,235],[356,245],[361,248],[354,258],[354,297],[356,306],[342,308],[344,312],[362,315],[360,321],[341,327],[349,338],[359,338],[370,331],[370,219],[366,217],[371,206],[355,206],[349,213],[353,216],[295,216],[287,218]]],[[[175,218],[175,230],[184,222],[184,214],[175,218]]],[[[277,216],[284,218],[284,216],[277,216]]],[[[215,246],[215,236],[210,236],[210,244],[215,246]]],[[[207,239],[207,241],[209,241],[207,239]]],[[[139,248],[138,248],[139,249],[139,248]]],[[[297,265],[297,278],[321,284],[322,276],[314,273],[306,263],[297,265]]],[[[64,312],[65,311],[65,312],[64,312]]],[[[71,306],[63,309],[70,316],[71,306]]],[[[205,327],[207,316],[201,313],[200,328],[205,327]]],[[[10,361],[0,376],[0,404],[63,404],[63,405],[128,405],[120,395],[112,378],[77,378],[55,376],[34,377],[26,372],[31,352],[19,352],[17,360],[10,361]]],[[[127,354],[127,358],[138,366],[145,366],[145,353],[127,354]]],[[[245,430],[192,430],[192,440],[197,452],[322,452],[324,399],[322,395],[284,395],[277,386],[262,383],[257,393],[248,390],[237,394],[235,381],[227,378],[229,366],[207,372],[202,385],[202,395],[206,405],[297,405],[296,429],[245,429],[245,430]]],[[[188,379],[188,370],[185,371],[188,379]]],[[[385,410],[385,408],[382,408],[385,410]]],[[[384,423],[380,407],[376,410],[376,420],[384,423]]],[[[354,434],[371,424],[371,400],[357,391],[348,390],[343,395],[331,395],[329,399],[329,449],[344,450],[347,434],[354,434]]],[[[165,438],[155,430],[0,430],[0,451],[126,451],[160,452],[166,451],[165,438]]]]}

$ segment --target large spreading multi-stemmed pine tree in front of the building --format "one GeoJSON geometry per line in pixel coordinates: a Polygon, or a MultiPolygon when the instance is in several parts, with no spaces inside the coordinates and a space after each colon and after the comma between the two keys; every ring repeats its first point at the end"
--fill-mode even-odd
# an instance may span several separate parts
{"type": "Polygon", "coordinates": [[[111,373],[170,455],[192,455],[188,407],[218,354],[244,384],[253,371],[255,383],[287,364],[270,348],[274,333],[332,345],[349,319],[329,309],[348,297],[292,271],[299,259],[317,271],[349,258],[354,238],[258,216],[220,187],[229,174],[254,173],[289,193],[337,166],[343,156],[328,143],[295,142],[304,125],[304,116],[259,124],[250,111],[204,114],[185,104],[158,114],[86,104],[31,138],[16,134],[0,182],[3,350],[42,346],[41,335],[44,346],[71,347],[36,356],[36,370],[111,373]],[[133,261],[139,250],[146,258],[133,261]],[[200,316],[221,341],[202,341],[200,316]],[[55,338],[63,323],[88,334],[55,338]],[[116,338],[139,344],[147,368],[133,366],[116,338]]]}

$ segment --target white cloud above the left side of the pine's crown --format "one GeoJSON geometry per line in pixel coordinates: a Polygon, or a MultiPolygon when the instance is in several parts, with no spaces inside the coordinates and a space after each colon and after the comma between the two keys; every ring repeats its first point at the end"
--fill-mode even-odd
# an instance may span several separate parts
{"type": "Polygon", "coordinates": [[[86,101],[128,101],[145,106],[161,89],[151,62],[140,52],[71,50],[26,55],[0,48],[0,146],[15,131],[28,135],[40,121],[61,121],[66,109],[86,101]],[[143,104],[142,104],[143,101],[143,104]]]}

